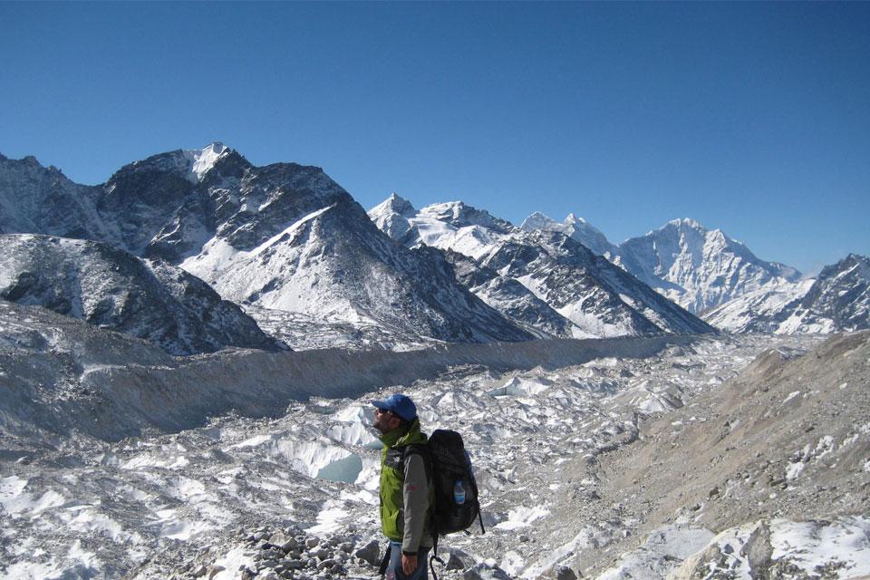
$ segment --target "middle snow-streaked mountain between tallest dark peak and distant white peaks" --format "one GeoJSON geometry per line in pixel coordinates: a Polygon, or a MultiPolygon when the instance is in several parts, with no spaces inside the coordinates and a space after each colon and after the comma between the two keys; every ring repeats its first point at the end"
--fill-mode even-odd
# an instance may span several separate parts
{"type": "Polygon", "coordinates": [[[369,216],[408,247],[447,252],[460,282],[538,335],[713,332],[563,233],[525,232],[461,202],[415,211],[395,195],[369,216]]]}

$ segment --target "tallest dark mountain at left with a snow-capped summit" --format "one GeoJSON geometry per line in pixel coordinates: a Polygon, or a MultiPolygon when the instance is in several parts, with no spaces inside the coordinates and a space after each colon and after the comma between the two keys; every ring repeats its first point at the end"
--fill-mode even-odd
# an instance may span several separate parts
{"type": "Polygon", "coordinates": [[[4,158],[0,185],[5,205],[22,193],[37,200],[16,206],[4,231],[93,237],[181,266],[238,303],[379,324],[397,336],[533,338],[459,285],[443,258],[393,243],[319,168],[255,167],[215,143],[137,161],[94,188],[4,158]],[[79,229],[54,216],[66,206],[79,229]]]}

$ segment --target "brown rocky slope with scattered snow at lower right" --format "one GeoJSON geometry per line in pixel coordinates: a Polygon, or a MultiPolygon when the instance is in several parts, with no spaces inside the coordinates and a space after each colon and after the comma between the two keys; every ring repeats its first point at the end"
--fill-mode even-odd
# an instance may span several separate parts
{"type": "Polygon", "coordinates": [[[870,510],[868,362],[870,333],[836,336],[797,358],[767,351],[734,380],[643,421],[632,445],[594,463],[575,461],[576,480],[588,481],[596,497],[592,504],[565,498],[560,508],[579,510],[578,526],[590,513],[619,512],[634,523],[609,552],[637,548],[614,563],[585,546],[575,565],[614,565],[604,576],[622,577],[649,556],[650,538],[701,528],[720,535],[701,542],[697,556],[685,555],[674,577],[860,575],[850,571],[855,561],[838,561],[821,545],[822,562],[807,566],[816,547],[788,546],[788,535],[799,536],[801,526],[809,536],[851,527],[842,533],[858,534],[853,546],[870,546],[870,530],[849,519],[870,510]]]}

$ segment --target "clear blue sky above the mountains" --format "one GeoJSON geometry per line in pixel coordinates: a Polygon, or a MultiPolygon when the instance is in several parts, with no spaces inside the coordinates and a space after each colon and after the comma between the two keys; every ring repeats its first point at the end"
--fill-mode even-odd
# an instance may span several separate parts
{"type": "Polygon", "coordinates": [[[0,152],[100,183],[221,140],[371,208],[870,254],[870,4],[0,3],[0,152]]]}

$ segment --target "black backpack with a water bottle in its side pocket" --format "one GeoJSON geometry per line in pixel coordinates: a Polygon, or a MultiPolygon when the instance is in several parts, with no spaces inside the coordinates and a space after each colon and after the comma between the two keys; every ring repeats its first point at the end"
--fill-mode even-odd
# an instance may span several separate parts
{"type": "Polygon", "coordinates": [[[430,485],[434,489],[434,504],[431,510],[431,533],[435,546],[432,548],[430,567],[432,575],[435,569],[432,560],[441,564],[438,557],[438,537],[464,531],[477,519],[480,522],[480,532],[486,533],[483,527],[483,517],[480,515],[478,501],[478,482],[474,479],[471,458],[465,450],[462,436],[456,431],[434,430],[429,440],[421,445],[409,445],[405,448],[404,457],[411,453],[419,453],[426,464],[430,485]],[[461,492],[464,492],[464,500],[461,492]]]}

